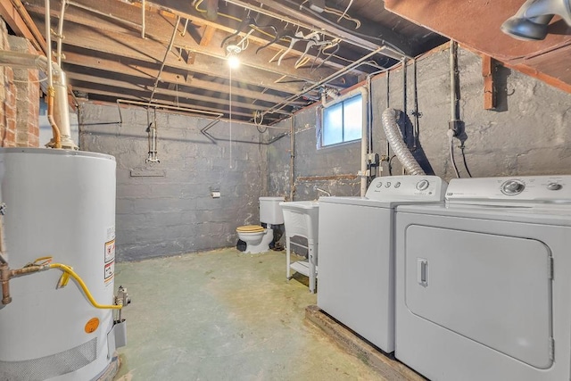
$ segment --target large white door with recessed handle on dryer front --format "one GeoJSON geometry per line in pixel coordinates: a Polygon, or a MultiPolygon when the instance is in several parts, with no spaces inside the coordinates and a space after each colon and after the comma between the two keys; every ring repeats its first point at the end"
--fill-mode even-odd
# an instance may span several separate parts
{"type": "Polygon", "coordinates": [[[539,369],[551,360],[550,250],[540,241],[410,225],[408,309],[539,369]]]}

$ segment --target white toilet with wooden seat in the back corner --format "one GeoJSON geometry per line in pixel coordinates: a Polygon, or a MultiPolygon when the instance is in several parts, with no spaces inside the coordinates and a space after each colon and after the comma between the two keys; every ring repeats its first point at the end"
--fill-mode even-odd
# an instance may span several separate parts
{"type": "Polygon", "coordinates": [[[260,197],[260,222],[265,225],[245,225],[236,228],[238,238],[246,243],[244,253],[264,253],[269,251],[269,244],[274,239],[272,225],[284,223],[284,215],[279,203],[284,197],[260,197]]]}

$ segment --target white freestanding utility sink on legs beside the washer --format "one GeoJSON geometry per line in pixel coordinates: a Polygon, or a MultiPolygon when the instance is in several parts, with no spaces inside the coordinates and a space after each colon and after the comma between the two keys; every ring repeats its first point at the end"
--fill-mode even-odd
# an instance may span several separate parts
{"type": "Polygon", "coordinates": [[[310,277],[310,292],[316,291],[318,277],[318,232],[319,202],[291,201],[279,203],[284,212],[285,249],[287,261],[287,279],[291,279],[291,270],[310,277]],[[293,236],[307,238],[307,246],[291,241],[293,236]],[[307,248],[308,260],[291,262],[292,244],[307,248]]]}

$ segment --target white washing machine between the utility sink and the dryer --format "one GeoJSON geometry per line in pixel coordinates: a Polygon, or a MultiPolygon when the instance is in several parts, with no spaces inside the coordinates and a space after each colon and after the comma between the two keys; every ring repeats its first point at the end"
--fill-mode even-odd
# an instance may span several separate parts
{"type": "Polygon", "coordinates": [[[365,197],[319,198],[319,308],[382,351],[394,350],[394,208],[442,202],[445,190],[435,176],[394,176],[365,197]]]}

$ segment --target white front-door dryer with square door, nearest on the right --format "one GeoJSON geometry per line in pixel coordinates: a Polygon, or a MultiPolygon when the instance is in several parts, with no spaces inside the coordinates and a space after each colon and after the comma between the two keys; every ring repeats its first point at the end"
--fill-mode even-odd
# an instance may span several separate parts
{"type": "Polygon", "coordinates": [[[395,356],[433,381],[571,379],[571,176],[453,179],[396,213],[395,356]]]}

